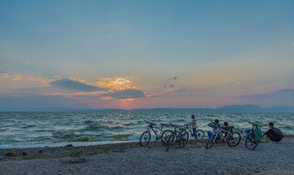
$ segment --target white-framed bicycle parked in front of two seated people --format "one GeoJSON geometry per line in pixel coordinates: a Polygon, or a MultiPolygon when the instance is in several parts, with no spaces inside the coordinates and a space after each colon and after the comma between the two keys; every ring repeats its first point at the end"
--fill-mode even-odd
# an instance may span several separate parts
{"type": "MultiPolygon", "coordinates": [[[[214,122],[212,122],[215,124],[214,122]]],[[[234,128],[231,126],[230,128],[234,128]]],[[[227,142],[230,147],[237,146],[241,141],[241,135],[238,132],[230,132],[223,128],[217,126],[216,130],[213,132],[212,136],[206,143],[206,149],[210,149],[217,139],[221,139],[221,142],[227,142]],[[223,132],[227,133],[227,136],[223,136],[223,132]]]]}

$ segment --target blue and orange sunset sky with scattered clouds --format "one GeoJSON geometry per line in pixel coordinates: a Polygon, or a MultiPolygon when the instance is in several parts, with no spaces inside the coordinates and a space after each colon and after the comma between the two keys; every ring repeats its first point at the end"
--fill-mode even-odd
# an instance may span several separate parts
{"type": "Polygon", "coordinates": [[[0,111],[294,106],[293,0],[1,0],[0,111]]]}

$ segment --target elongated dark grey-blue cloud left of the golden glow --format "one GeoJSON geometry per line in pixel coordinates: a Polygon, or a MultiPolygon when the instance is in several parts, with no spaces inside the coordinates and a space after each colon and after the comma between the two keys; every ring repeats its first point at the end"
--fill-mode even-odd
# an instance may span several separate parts
{"type": "Polygon", "coordinates": [[[87,85],[85,83],[70,80],[67,78],[52,81],[51,85],[53,87],[65,88],[68,90],[78,90],[78,91],[83,91],[83,92],[105,91],[106,90],[105,88],[99,88],[96,86],[87,85]]]}

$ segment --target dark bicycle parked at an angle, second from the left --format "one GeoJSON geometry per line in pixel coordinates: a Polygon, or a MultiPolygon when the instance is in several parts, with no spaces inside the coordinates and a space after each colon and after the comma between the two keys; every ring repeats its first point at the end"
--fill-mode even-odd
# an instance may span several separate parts
{"type": "Polygon", "coordinates": [[[175,126],[175,125],[173,125],[171,123],[169,123],[169,124],[174,127],[174,130],[173,131],[167,130],[168,132],[171,132],[171,134],[169,135],[165,151],[168,151],[169,147],[171,145],[174,145],[176,142],[179,143],[179,147],[181,147],[181,148],[184,147],[187,144],[188,139],[189,139],[189,134],[186,131],[186,128],[180,128],[180,127],[175,126]],[[176,139],[176,140],[173,143],[174,139],[176,139]]]}

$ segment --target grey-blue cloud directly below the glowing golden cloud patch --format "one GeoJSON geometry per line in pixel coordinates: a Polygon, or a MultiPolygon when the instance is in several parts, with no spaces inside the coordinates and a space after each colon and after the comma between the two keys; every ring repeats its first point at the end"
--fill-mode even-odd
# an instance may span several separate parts
{"type": "Polygon", "coordinates": [[[125,100],[125,99],[138,99],[146,97],[145,93],[139,89],[127,88],[124,90],[115,90],[107,94],[101,95],[102,97],[111,97],[114,99],[125,100]]]}

